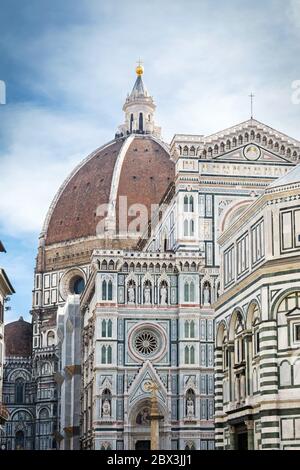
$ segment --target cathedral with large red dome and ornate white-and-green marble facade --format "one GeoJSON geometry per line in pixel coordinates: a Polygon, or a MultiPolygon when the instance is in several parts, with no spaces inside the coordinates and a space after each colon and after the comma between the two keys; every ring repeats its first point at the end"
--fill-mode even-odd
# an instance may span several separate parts
{"type": "MultiPolygon", "coordinates": [[[[231,312],[221,299],[232,274],[220,270],[218,241],[235,236],[236,221],[295,167],[300,143],[253,118],[166,143],[141,66],[136,74],[124,123],[62,184],[40,235],[39,407],[56,422],[52,448],[147,449],[155,384],[159,448],[227,448],[232,422],[219,390],[216,410],[214,399],[214,349],[225,339],[214,318],[216,307],[225,331],[231,312]]],[[[256,296],[257,309],[264,298],[256,296]]]]}

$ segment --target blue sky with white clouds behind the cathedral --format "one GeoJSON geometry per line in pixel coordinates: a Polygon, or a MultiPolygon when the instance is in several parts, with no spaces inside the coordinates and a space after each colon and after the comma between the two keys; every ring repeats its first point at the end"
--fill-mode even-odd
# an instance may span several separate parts
{"type": "Polygon", "coordinates": [[[142,59],[169,142],[250,117],[300,139],[300,0],[1,0],[0,254],[30,319],[38,236],[69,172],[111,140],[142,59]]]}

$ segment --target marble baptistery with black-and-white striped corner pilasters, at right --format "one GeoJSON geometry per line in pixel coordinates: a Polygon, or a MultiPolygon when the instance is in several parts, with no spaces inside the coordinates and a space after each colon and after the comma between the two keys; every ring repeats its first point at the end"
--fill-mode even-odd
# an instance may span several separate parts
{"type": "Polygon", "coordinates": [[[220,238],[216,447],[300,449],[300,166],[220,238]]]}

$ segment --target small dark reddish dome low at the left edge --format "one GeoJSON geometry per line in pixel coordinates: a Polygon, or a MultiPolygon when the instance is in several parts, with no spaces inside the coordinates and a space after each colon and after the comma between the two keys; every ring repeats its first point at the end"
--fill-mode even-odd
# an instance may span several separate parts
{"type": "Polygon", "coordinates": [[[6,357],[29,357],[32,350],[32,325],[20,317],[4,327],[6,357]]]}

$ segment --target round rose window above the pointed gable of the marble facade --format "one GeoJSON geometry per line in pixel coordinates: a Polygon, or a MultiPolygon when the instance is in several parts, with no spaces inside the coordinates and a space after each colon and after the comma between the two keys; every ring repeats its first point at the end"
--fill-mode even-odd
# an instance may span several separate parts
{"type": "Polygon", "coordinates": [[[144,323],[136,325],[129,333],[128,350],[138,360],[159,360],[167,352],[165,330],[157,324],[144,323]]]}

